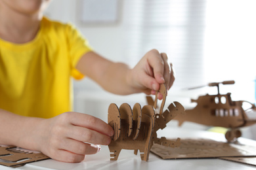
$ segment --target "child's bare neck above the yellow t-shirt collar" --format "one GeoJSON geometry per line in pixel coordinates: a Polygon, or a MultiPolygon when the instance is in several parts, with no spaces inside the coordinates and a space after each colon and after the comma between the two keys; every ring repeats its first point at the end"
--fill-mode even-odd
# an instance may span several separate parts
{"type": "Polygon", "coordinates": [[[42,14],[20,14],[11,9],[0,10],[0,38],[16,44],[32,41],[39,30],[42,14]]]}

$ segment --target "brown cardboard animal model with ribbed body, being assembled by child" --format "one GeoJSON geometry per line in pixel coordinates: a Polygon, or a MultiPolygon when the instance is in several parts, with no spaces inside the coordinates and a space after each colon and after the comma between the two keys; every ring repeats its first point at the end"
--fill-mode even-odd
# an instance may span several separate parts
{"type": "Polygon", "coordinates": [[[136,103],[131,109],[127,103],[123,103],[119,109],[116,104],[110,104],[108,108],[108,124],[114,129],[114,137],[108,145],[110,150],[110,160],[117,160],[122,149],[134,150],[137,155],[140,151],[141,160],[148,161],[150,149],[154,143],[163,146],[179,146],[180,140],[169,141],[165,137],[158,138],[156,131],[163,129],[166,124],[173,120],[178,114],[184,114],[184,107],[179,102],[169,105],[168,109],[163,112],[166,98],[166,87],[161,84],[159,92],[163,95],[160,112],[157,113],[157,93],[152,105],[140,107],[136,103]]]}

